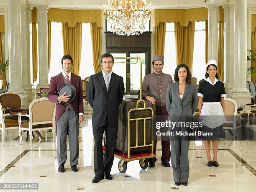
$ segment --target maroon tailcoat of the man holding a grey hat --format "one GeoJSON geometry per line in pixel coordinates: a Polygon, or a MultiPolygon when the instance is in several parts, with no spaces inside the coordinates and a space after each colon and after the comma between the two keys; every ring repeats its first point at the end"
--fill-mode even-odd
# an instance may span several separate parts
{"type": "MultiPolygon", "coordinates": [[[[62,77],[62,74],[58,74],[55,77],[51,77],[50,85],[49,85],[49,91],[48,91],[48,99],[56,103],[56,116],[55,116],[55,123],[57,124],[60,116],[64,113],[65,109],[67,108],[67,105],[59,104],[58,102],[58,92],[59,89],[64,85],[64,80],[62,77]]],[[[83,101],[83,88],[82,88],[82,81],[81,77],[71,73],[71,84],[76,87],[77,94],[74,97],[74,100],[70,103],[73,110],[77,115],[79,113],[84,113],[84,101],[83,101]]]]}

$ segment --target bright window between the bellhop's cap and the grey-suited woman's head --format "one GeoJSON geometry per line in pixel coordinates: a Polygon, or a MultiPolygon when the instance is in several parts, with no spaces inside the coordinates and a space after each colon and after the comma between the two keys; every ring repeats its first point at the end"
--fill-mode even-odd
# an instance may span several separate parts
{"type": "Polygon", "coordinates": [[[172,79],[174,79],[174,71],[177,66],[176,63],[177,61],[176,61],[174,23],[166,23],[163,72],[166,74],[172,75],[172,79]]]}

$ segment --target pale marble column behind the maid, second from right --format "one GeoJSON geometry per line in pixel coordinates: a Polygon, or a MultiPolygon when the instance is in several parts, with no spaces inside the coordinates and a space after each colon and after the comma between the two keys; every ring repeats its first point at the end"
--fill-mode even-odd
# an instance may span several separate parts
{"type": "Polygon", "coordinates": [[[234,41],[235,41],[235,20],[234,5],[223,5],[224,9],[224,63],[227,95],[234,87],[234,41]]]}

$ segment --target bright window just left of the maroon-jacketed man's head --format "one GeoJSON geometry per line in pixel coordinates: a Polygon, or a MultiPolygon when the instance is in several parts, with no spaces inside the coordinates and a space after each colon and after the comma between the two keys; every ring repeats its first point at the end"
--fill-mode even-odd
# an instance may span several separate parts
{"type": "Polygon", "coordinates": [[[48,81],[62,71],[61,58],[63,56],[63,38],[61,23],[51,22],[51,65],[48,81]]]}

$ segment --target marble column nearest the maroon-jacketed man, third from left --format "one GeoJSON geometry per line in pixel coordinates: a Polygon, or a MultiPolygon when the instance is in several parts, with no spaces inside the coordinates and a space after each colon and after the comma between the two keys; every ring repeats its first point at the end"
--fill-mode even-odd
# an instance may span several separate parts
{"type": "Polygon", "coordinates": [[[49,87],[48,83],[48,36],[47,6],[37,7],[38,18],[38,56],[39,56],[39,87],[49,87]]]}

